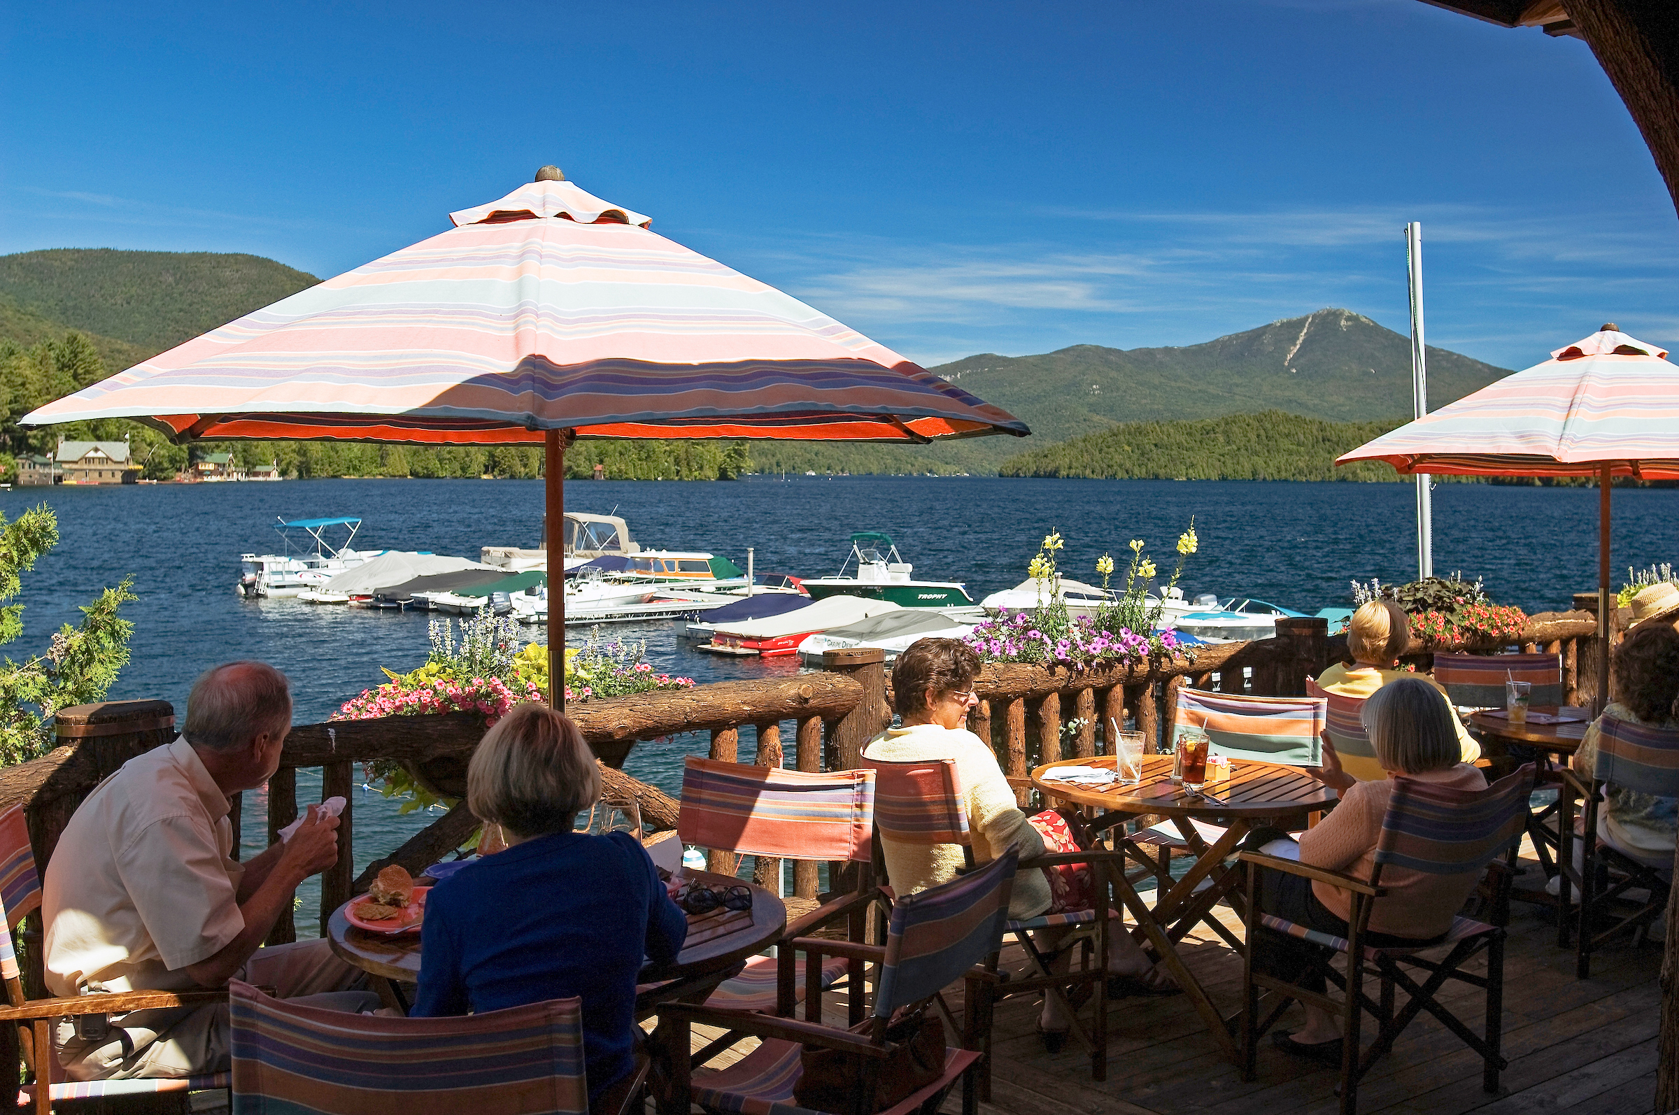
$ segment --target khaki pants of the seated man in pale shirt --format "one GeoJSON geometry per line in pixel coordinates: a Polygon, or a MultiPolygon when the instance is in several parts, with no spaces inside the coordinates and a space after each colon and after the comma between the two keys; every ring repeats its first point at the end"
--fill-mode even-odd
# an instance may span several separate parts
{"type": "MultiPolygon", "coordinates": [[[[257,949],[238,979],[327,1011],[363,1013],[379,1006],[379,996],[366,991],[366,972],[332,955],[324,939],[257,949]]],[[[112,1014],[109,1023],[109,1033],[97,1041],[77,1036],[74,1019],[59,1024],[59,1065],[67,1080],[196,1076],[228,1068],[227,1002],[129,1011],[112,1014]]]]}

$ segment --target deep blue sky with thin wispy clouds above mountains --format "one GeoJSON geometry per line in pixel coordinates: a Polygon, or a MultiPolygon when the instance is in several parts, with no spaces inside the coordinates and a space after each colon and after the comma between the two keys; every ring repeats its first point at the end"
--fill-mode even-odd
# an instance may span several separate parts
{"type": "Polygon", "coordinates": [[[0,252],[326,277],[552,161],[925,364],[1405,331],[1405,220],[1434,344],[1679,348],[1674,207],[1587,45],[1419,0],[59,2],[0,35],[0,252]]]}

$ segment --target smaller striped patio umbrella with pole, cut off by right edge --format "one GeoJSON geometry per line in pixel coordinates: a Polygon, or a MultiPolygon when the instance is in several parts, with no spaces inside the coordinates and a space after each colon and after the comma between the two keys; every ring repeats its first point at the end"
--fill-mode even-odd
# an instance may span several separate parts
{"type": "Polygon", "coordinates": [[[1614,324],[1336,458],[1464,477],[1597,477],[1598,704],[1608,695],[1614,477],[1679,480],[1679,364],[1614,324]]]}

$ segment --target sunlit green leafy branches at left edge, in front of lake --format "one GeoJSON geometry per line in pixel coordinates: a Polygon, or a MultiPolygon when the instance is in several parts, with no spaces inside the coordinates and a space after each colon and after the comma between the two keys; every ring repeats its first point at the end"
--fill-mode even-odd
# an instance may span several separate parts
{"type": "MultiPolygon", "coordinates": [[[[59,522],[44,504],[25,510],[17,522],[0,517],[0,601],[22,591],[22,573],[59,541],[59,522]]],[[[52,747],[45,722],[69,705],[102,700],[118,673],[128,665],[128,638],[134,625],[118,613],[133,578],[123,578],[84,606],[82,625],[60,626],[45,655],[0,667],[0,762],[24,762],[52,747]]],[[[24,633],[22,605],[0,608],[0,643],[24,633]]]]}

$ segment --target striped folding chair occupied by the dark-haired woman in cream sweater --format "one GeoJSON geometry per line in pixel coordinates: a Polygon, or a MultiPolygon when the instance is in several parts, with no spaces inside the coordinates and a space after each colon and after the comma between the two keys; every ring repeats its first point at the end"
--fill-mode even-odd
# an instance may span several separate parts
{"type": "MultiPolygon", "coordinates": [[[[974,866],[972,835],[967,826],[967,809],[962,804],[962,783],[957,776],[955,761],[935,759],[927,762],[885,762],[865,759],[875,771],[875,828],[880,831],[880,843],[905,845],[955,845],[962,850],[965,870],[974,866]]],[[[1120,853],[1091,848],[1090,851],[1064,851],[1021,860],[1023,872],[1038,870],[1064,863],[1088,863],[1095,873],[1095,908],[1066,910],[1061,913],[1043,913],[1029,919],[1009,919],[1004,932],[1021,945],[1038,971],[1029,979],[1009,979],[1001,989],[1002,996],[1044,992],[1058,996],[1071,1021],[1071,1033],[1090,1050],[1090,1068],[1095,1080],[1108,1076],[1108,920],[1110,892],[1106,887],[1106,866],[1118,865],[1123,870],[1120,853]],[[1043,950],[1033,940],[1031,930],[1051,929],[1058,925],[1080,927],[1076,934],[1063,939],[1054,952],[1043,950]],[[1076,971],[1051,974],[1053,961],[1068,949],[1078,949],[1081,964],[1076,971]],[[1095,1016],[1090,1029],[1078,1019],[1068,996],[1081,994],[1090,984],[1095,991],[1095,1016]]],[[[881,865],[883,868],[883,865],[881,865]]],[[[890,877],[883,878],[881,890],[890,895],[890,877]]],[[[996,969],[997,957],[991,961],[996,969]]],[[[989,1050],[989,1034],[986,1038],[989,1050]]],[[[991,1070],[986,1070],[984,1098],[991,1098],[991,1070]]]]}

